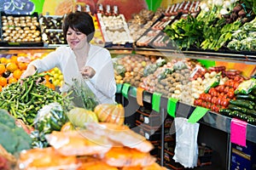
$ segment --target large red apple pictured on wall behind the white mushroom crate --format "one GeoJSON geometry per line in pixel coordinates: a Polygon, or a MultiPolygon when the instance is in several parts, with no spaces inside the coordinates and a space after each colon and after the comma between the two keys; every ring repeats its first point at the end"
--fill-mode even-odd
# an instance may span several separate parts
{"type": "Polygon", "coordinates": [[[132,14],[139,13],[143,8],[148,9],[146,0],[98,0],[97,4],[102,3],[103,7],[109,4],[112,8],[114,5],[118,6],[119,13],[125,15],[126,20],[131,20],[132,14]]]}

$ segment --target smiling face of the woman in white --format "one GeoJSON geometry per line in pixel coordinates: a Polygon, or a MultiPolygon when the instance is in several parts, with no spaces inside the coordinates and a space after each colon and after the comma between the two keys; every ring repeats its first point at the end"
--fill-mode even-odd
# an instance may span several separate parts
{"type": "Polygon", "coordinates": [[[67,43],[73,50],[84,48],[84,46],[88,43],[87,36],[83,32],[74,31],[69,27],[67,30],[67,43]]]}

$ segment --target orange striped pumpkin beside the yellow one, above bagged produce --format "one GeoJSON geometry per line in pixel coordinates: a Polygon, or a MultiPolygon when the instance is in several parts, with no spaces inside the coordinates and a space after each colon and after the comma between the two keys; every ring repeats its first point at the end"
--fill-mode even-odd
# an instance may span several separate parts
{"type": "Polygon", "coordinates": [[[113,122],[123,125],[125,121],[125,109],[121,104],[100,104],[94,109],[100,122],[113,122]]]}

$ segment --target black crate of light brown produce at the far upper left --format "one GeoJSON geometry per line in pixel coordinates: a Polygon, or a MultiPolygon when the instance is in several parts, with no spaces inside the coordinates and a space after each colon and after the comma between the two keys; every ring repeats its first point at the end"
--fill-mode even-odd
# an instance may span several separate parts
{"type": "Polygon", "coordinates": [[[30,42],[31,45],[42,46],[41,31],[38,22],[38,14],[18,15],[1,14],[3,45],[9,46],[8,42],[30,42]],[[33,42],[33,43],[32,43],[33,42]]]}

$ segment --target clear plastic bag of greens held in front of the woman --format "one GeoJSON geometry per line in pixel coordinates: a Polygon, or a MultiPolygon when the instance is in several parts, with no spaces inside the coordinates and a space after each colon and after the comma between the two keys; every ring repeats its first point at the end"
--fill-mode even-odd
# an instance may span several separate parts
{"type": "Polygon", "coordinates": [[[73,84],[69,86],[67,94],[69,94],[68,98],[72,101],[71,107],[73,105],[89,111],[94,111],[94,108],[99,104],[99,101],[84,81],[84,78],[73,78],[73,84]]]}

